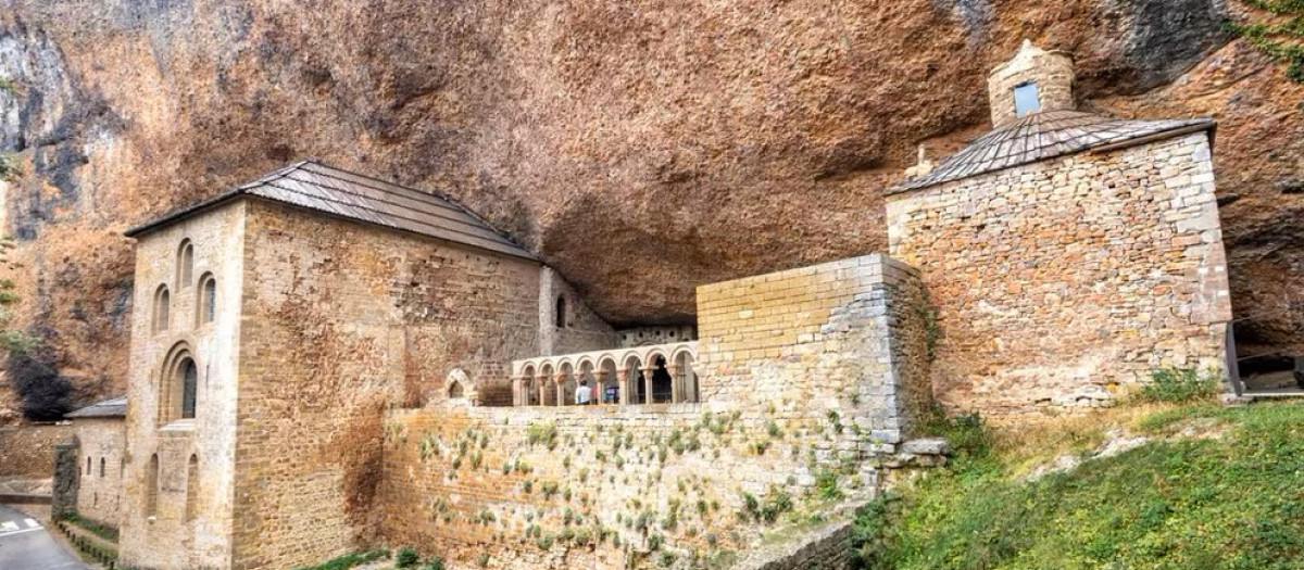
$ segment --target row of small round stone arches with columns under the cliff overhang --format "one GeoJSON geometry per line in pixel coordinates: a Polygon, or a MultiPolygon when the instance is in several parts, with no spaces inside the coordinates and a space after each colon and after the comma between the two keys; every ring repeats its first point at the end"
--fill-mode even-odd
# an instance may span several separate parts
{"type": "Polygon", "coordinates": [[[536,357],[511,363],[514,406],[574,406],[588,383],[593,403],[679,403],[700,400],[698,342],[536,357]]]}

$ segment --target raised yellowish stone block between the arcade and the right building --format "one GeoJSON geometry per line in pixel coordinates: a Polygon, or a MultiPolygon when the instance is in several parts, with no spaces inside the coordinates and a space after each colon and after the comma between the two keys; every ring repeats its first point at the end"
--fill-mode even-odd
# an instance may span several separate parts
{"type": "Polygon", "coordinates": [[[905,376],[926,368],[922,299],[918,272],[879,254],[704,285],[702,397],[808,416],[838,413],[870,439],[897,444],[906,403],[926,392],[905,376]]]}

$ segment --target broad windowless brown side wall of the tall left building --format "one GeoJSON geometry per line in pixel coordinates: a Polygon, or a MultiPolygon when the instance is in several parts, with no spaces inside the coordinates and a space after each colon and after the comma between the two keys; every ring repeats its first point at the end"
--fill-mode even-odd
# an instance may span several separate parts
{"type": "Polygon", "coordinates": [[[382,410],[539,353],[540,264],[249,207],[232,567],[282,569],[374,537],[382,410]]]}

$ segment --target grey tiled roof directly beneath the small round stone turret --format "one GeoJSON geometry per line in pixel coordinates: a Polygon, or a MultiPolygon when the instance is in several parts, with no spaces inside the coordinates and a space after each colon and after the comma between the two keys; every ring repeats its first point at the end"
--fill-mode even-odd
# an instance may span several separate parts
{"type": "Polygon", "coordinates": [[[887,194],[932,186],[986,172],[1091,148],[1176,137],[1213,129],[1211,118],[1140,121],[1077,111],[1046,111],[1001,125],[941,161],[932,172],[889,187],[887,194]]]}

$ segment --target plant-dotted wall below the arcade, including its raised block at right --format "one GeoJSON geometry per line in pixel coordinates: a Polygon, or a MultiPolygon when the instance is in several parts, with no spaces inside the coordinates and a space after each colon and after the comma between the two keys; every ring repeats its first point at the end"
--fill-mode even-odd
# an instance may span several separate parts
{"type": "Polygon", "coordinates": [[[390,411],[381,540],[454,569],[690,567],[828,511],[816,480],[863,500],[926,366],[913,281],[874,255],[700,288],[702,403],[390,411]]]}

